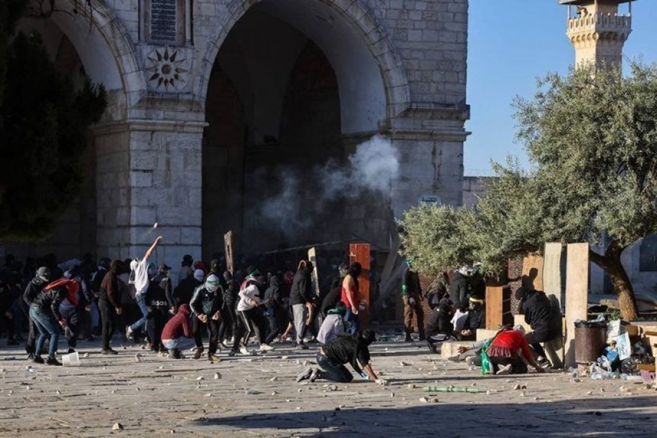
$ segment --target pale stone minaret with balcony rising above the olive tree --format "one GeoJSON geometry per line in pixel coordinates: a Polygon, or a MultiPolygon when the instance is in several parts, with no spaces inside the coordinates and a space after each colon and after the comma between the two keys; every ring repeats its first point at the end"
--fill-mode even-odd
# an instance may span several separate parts
{"type": "Polygon", "coordinates": [[[632,31],[632,0],[559,0],[559,3],[568,5],[566,35],[575,47],[575,64],[622,63],[623,44],[632,31]],[[620,3],[629,3],[627,14],[618,14],[620,3]]]}

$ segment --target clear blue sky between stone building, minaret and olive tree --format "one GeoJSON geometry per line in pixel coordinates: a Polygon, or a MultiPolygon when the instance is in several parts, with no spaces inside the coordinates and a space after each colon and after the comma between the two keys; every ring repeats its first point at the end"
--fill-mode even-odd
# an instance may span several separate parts
{"type": "MultiPolygon", "coordinates": [[[[627,12],[627,5],[620,6],[627,12]]],[[[515,140],[512,100],[530,98],[536,78],[549,71],[566,73],[575,52],[566,38],[567,7],[557,0],[470,0],[468,104],[465,175],[490,174],[490,160],[508,154],[527,163],[515,140]]],[[[657,0],[632,5],[633,31],[624,56],[657,61],[657,0]]]]}

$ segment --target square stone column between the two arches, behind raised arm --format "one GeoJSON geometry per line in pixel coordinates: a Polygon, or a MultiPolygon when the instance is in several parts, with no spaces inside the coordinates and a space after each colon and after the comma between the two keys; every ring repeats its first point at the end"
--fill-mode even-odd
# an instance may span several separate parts
{"type": "Polygon", "coordinates": [[[201,257],[204,126],[127,120],[95,129],[98,257],[142,257],[158,235],[153,260],[172,266],[172,274],[183,255],[201,257]]]}

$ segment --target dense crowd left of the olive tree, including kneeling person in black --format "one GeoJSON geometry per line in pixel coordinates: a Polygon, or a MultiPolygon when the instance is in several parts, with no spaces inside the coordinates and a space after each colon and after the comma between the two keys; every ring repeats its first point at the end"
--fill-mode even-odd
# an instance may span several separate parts
{"type": "MultiPolygon", "coordinates": [[[[7,256],[0,271],[0,329],[8,334],[8,344],[24,342],[26,358],[34,363],[61,365],[55,354],[62,333],[68,354],[75,352],[78,339],[94,336],[100,336],[102,354],[118,354],[111,345],[118,333],[124,341],[143,339],[144,348],[173,359],[184,358],[187,351],[199,359],[207,346],[212,362],[221,360],[219,349],[228,356],[256,354],[249,348],[252,338],[260,352],[272,351],[275,343],[293,342],[297,349],[319,343],[326,367],[355,364],[359,358],[358,372],[381,383],[367,353],[375,335],[359,331],[362,268],[357,262],[335,266],[330,284],[318,294],[308,260],[299,262],[296,271],[269,268],[264,273],[249,265],[230,272],[220,255],[209,268],[185,255],[174,286],[171,268],[151,262],[161,240],[143,257],[102,258],[98,265],[91,255],[62,264],[48,255],[26,266],[7,256]]],[[[324,378],[346,381],[339,368],[324,368],[324,378]]],[[[313,380],[322,376],[320,369],[315,374],[313,380]]]]}

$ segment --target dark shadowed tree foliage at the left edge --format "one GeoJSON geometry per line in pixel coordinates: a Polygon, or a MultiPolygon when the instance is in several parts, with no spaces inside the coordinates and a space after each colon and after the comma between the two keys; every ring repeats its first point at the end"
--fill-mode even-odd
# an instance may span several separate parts
{"type": "Polygon", "coordinates": [[[43,239],[80,192],[89,125],[107,104],[102,86],[80,90],[55,71],[41,38],[19,33],[8,48],[0,106],[0,236],[43,239]]]}

